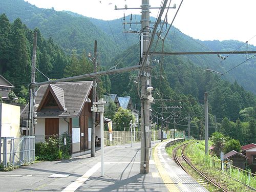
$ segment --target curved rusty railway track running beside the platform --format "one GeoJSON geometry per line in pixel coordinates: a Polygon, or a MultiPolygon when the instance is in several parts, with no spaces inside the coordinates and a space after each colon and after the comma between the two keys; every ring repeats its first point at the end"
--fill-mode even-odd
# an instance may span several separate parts
{"type": "MultiPolygon", "coordinates": [[[[178,155],[177,155],[177,151],[179,150],[179,148],[181,148],[181,156],[183,158],[183,160],[189,164],[201,177],[204,178],[204,180],[206,180],[208,183],[214,185],[215,187],[221,189],[222,191],[227,191],[226,189],[222,188],[219,184],[215,183],[214,181],[212,181],[209,177],[207,177],[205,174],[203,174],[197,167],[195,167],[193,164],[190,163],[190,161],[186,158],[186,156],[184,155],[184,149],[185,147],[188,145],[189,143],[185,143],[185,144],[182,144],[180,146],[178,146],[177,148],[175,148],[174,150],[174,159],[175,161],[177,162],[177,164],[179,166],[181,166],[185,172],[187,172],[187,170],[185,169],[185,167],[181,164],[180,162],[180,159],[178,158],[178,155]]],[[[187,172],[188,173],[188,172],[187,172]]]]}

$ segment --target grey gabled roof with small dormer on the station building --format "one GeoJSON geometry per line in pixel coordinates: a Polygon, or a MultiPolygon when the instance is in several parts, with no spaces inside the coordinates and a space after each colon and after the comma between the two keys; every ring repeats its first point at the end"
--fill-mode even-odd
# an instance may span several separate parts
{"type": "MultiPolygon", "coordinates": [[[[93,81],[61,82],[40,86],[37,90],[35,104],[39,104],[37,118],[74,118],[79,117],[93,86],[93,81]],[[42,108],[41,101],[47,96],[47,91],[53,94],[59,109],[42,108]]],[[[49,94],[49,93],[48,93],[49,94]]],[[[28,118],[28,105],[21,116],[28,118]]]]}

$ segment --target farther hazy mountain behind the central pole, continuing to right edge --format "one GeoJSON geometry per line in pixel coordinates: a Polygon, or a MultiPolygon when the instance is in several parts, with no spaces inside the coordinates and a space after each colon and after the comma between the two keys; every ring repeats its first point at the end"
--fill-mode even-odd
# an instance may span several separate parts
{"type": "MultiPolygon", "coordinates": [[[[123,19],[115,19],[104,21],[95,18],[90,18],[90,20],[103,31],[105,31],[109,38],[115,39],[118,45],[127,48],[131,45],[136,44],[139,41],[138,34],[127,34],[122,33],[123,29],[123,19]],[[113,37],[113,34],[114,37],[113,37]],[[127,40],[128,39],[128,40],[127,40]]],[[[138,22],[141,20],[140,15],[133,15],[133,22],[138,22]]],[[[151,17],[151,21],[155,22],[156,18],[151,17]]],[[[125,22],[130,22],[130,16],[125,17],[125,22]]],[[[169,26],[167,26],[168,28],[169,26]]],[[[129,30],[130,25],[126,25],[126,30],[129,30]]],[[[131,25],[133,31],[139,31],[140,25],[131,25]]],[[[160,28],[159,28],[160,29],[160,28]]],[[[163,27],[163,31],[166,31],[166,26],[163,27]]],[[[162,34],[164,36],[165,33],[162,34]]],[[[250,43],[250,42],[248,42],[250,43]]],[[[159,43],[161,46],[161,43],[159,43]]],[[[237,40],[214,40],[214,41],[201,41],[199,39],[193,39],[185,34],[183,34],[179,29],[172,27],[169,34],[166,37],[164,44],[164,51],[166,52],[196,52],[196,51],[255,51],[256,47],[248,45],[245,42],[237,40]]],[[[160,47],[159,46],[159,47],[160,47]]],[[[121,48],[121,46],[120,46],[121,48]]],[[[161,51],[161,49],[157,49],[161,51]]],[[[239,65],[241,62],[246,61],[253,55],[222,55],[226,59],[222,60],[217,55],[185,55],[179,56],[184,62],[191,61],[196,66],[202,69],[212,69],[220,73],[225,73],[229,69],[239,65]]],[[[156,57],[157,58],[157,57],[156,57]]],[[[238,67],[223,76],[224,79],[234,82],[237,81],[246,90],[249,90],[256,94],[256,58],[252,58],[241,67],[238,67]]]]}

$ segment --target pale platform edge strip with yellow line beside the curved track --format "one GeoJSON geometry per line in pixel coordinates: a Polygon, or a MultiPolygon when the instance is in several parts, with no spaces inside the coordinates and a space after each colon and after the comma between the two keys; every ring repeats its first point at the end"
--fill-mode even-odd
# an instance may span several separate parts
{"type": "Polygon", "coordinates": [[[208,191],[188,175],[165,151],[167,143],[161,142],[154,150],[154,161],[158,172],[169,191],[208,191]]]}

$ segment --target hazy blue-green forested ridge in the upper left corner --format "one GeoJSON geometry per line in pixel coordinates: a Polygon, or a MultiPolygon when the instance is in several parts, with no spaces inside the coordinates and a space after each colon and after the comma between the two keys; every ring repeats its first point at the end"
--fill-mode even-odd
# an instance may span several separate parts
{"type": "Polygon", "coordinates": [[[87,17],[53,8],[39,9],[23,0],[1,0],[0,13],[5,13],[11,22],[19,17],[28,28],[39,28],[45,37],[52,37],[69,54],[73,49],[78,53],[82,50],[93,52],[95,39],[102,63],[109,62],[111,55],[117,53],[115,42],[87,17]]]}

